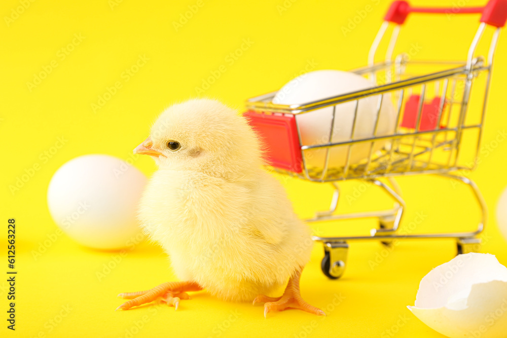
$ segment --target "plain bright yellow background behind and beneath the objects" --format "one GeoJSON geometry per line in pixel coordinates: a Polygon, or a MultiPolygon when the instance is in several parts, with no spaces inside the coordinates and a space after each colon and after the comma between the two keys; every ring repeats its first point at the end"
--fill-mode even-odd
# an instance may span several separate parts
{"type": "MultiPolygon", "coordinates": [[[[389,252],[376,242],[351,243],[347,271],[336,281],[321,273],[323,252],[321,245],[316,244],[301,288],[309,303],[328,313],[326,318],[285,311],[265,320],[262,307],[225,303],[205,292],[183,301],[177,312],[165,306],[115,312],[121,304],[116,298],[119,292],[146,289],[175,278],[165,254],[148,243],[128,251],[115,266],[111,262],[117,253],[82,248],[62,235],[34,259],[32,250],[49,237],[54,238],[57,229],[48,212],[46,191],[52,174],[63,163],[90,153],[129,159],[132,148],[148,135],[149,126],[160,111],[175,101],[197,96],[196,87],[202,86],[210,71],[221,65],[226,66],[226,71],[203,95],[219,98],[238,109],[246,98],[280,88],[309,62],[316,63],[314,69],[346,70],[366,65],[369,46],[390,3],[204,1],[176,31],[173,22],[180,20],[180,14],[197,1],[118,0],[118,6],[113,1],[36,0],[9,23],[5,17],[11,17],[20,2],[4,0],[0,5],[0,144],[4,154],[0,166],[0,223],[4,224],[1,247],[4,252],[7,219],[14,217],[19,271],[15,332],[6,328],[7,284],[6,278],[0,278],[0,312],[4,314],[0,316],[0,335],[441,336],[414,317],[406,306],[413,305],[420,279],[454,256],[452,240],[400,242],[389,252]],[[371,11],[364,15],[361,11],[367,5],[371,11]],[[357,11],[364,17],[357,19],[357,11]],[[342,27],[354,17],[356,27],[344,34],[342,27]],[[62,59],[61,49],[73,42],[74,34],[81,34],[84,39],[62,59]],[[241,48],[245,39],[252,42],[251,46],[231,64],[227,56],[241,48]],[[146,55],[149,60],[126,82],[122,72],[135,64],[139,55],[146,55]],[[27,82],[33,82],[34,74],[53,60],[57,67],[30,91],[27,82]],[[103,96],[117,81],[122,88],[94,112],[91,104],[97,103],[98,96],[103,96]],[[43,160],[41,154],[50,151],[58,137],[67,142],[51,159],[43,160]],[[40,169],[19,191],[11,193],[9,185],[14,185],[34,164],[39,164],[40,169]],[[372,268],[371,261],[376,258],[380,263],[372,268]],[[114,268],[99,280],[97,272],[103,272],[104,264],[114,268]]],[[[451,0],[414,3],[458,4],[451,0]]],[[[464,3],[478,6],[484,1],[464,3]]],[[[417,43],[423,46],[418,59],[464,59],[478,19],[478,15],[410,17],[397,51],[417,43]]],[[[494,140],[507,122],[506,40],[505,36],[500,37],[496,54],[483,144],[494,140]]],[[[500,142],[477,170],[468,174],[476,180],[490,209],[483,252],[496,254],[503,264],[507,264],[507,250],[494,211],[507,185],[506,147],[507,142],[500,142]]],[[[148,157],[135,159],[134,165],[147,175],[155,170],[148,157]]],[[[280,181],[302,217],[327,207],[330,187],[295,179],[280,181]]],[[[466,187],[431,176],[403,177],[399,182],[408,204],[405,221],[414,221],[418,212],[425,215],[416,231],[466,230],[476,226],[477,208],[466,187]]],[[[344,184],[344,196],[353,196],[360,184],[344,184]]],[[[372,210],[388,205],[384,195],[368,186],[356,201],[348,203],[343,199],[340,208],[372,210]]],[[[366,234],[375,227],[375,221],[365,220],[320,224],[315,232],[366,234]]],[[[4,264],[0,271],[7,270],[7,262],[4,264]]]]}

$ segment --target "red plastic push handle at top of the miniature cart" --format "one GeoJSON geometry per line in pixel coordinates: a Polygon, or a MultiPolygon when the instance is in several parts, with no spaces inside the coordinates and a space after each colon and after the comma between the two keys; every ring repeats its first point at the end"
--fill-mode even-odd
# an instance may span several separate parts
{"type": "Polygon", "coordinates": [[[484,7],[411,7],[406,1],[394,1],[384,20],[399,25],[405,22],[409,13],[482,13],[481,22],[495,27],[503,27],[507,21],[507,0],[490,0],[484,7]]]}

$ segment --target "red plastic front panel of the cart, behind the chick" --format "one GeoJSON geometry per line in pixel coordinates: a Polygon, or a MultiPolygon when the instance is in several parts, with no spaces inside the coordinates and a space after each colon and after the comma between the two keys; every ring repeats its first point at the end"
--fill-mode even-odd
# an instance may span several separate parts
{"type": "Polygon", "coordinates": [[[302,171],[301,149],[294,116],[268,115],[253,111],[247,111],[243,116],[248,118],[249,124],[267,144],[268,164],[296,173],[302,171]]]}

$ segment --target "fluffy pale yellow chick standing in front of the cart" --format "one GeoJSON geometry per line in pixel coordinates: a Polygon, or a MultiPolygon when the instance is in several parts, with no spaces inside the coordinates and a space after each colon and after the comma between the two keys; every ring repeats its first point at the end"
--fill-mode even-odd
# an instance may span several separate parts
{"type": "Polygon", "coordinates": [[[159,167],[141,198],[139,219],[182,282],[120,293],[131,300],[117,310],[158,298],[177,309],[188,291],[206,289],[227,301],[265,303],[265,317],[286,308],[325,315],[301,298],[310,231],[263,169],[264,148],[247,120],[218,101],[194,99],[161,114],[134,149],[159,167]],[[281,297],[265,295],[287,280],[281,297]]]}

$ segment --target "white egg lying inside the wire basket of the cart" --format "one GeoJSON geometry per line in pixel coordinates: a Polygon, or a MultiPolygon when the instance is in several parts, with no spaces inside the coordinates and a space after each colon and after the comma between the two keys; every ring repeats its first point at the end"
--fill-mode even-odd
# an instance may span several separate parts
{"type": "MultiPolygon", "coordinates": [[[[375,87],[375,85],[355,73],[340,70],[317,70],[303,74],[283,86],[273,98],[276,104],[302,104],[324,98],[355,92],[375,87]]],[[[355,101],[349,101],[336,106],[335,123],[332,142],[343,142],[350,139],[372,137],[377,119],[377,105],[379,96],[369,96],[359,99],[357,107],[357,121],[352,137],[355,101]]],[[[331,133],[333,107],[325,107],[306,112],[296,117],[301,138],[304,145],[328,143],[331,133]]],[[[380,109],[377,136],[388,135],[394,131],[395,111],[389,94],[384,94],[380,109]]],[[[377,141],[373,152],[386,145],[385,141],[377,141]]],[[[367,159],[370,154],[371,143],[361,143],[352,146],[350,164],[367,159]]],[[[346,163],[348,146],[335,146],[330,150],[330,167],[343,167],[346,163]]],[[[308,167],[323,168],[325,163],[325,149],[315,149],[305,152],[308,167]]]]}

